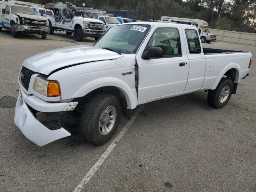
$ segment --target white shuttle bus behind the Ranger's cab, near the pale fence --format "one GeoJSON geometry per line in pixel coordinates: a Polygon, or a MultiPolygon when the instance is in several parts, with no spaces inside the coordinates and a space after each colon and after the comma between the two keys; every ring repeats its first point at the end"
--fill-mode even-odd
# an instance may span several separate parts
{"type": "Polygon", "coordinates": [[[210,43],[214,41],[214,34],[210,33],[209,30],[206,28],[208,26],[208,23],[204,20],[162,16],[161,21],[194,25],[198,28],[198,32],[200,34],[200,39],[202,43],[210,43]]]}

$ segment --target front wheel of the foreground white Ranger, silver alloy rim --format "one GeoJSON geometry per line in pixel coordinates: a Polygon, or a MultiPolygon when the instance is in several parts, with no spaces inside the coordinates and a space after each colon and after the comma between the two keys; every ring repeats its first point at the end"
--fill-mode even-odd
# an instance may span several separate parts
{"type": "Polygon", "coordinates": [[[120,101],[116,96],[101,93],[90,99],[80,118],[82,136],[95,145],[103,145],[110,140],[119,124],[120,101]]]}

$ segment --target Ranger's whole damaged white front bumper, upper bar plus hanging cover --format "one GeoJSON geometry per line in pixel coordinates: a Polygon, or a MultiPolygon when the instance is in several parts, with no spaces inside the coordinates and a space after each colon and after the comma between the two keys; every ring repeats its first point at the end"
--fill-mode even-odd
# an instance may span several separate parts
{"type": "MultiPolygon", "coordinates": [[[[60,111],[71,110],[70,108],[65,108],[66,106],[76,105],[77,102],[71,103],[50,103],[43,101],[39,98],[35,98],[34,95],[27,95],[20,90],[19,96],[15,106],[15,116],[14,123],[20,129],[20,131],[28,138],[30,141],[34,142],[38,146],[46,145],[50,142],[70,136],[70,132],[64,128],[57,130],[50,130],[43,124],[41,124],[30,111],[27,103],[35,104],[39,106],[42,110],[60,111]],[[45,105],[44,105],[45,104],[45,105]],[[56,106],[56,107],[54,107],[56,106]]],[[[72,110],[74,107],[72,108],[72,110]]]]}

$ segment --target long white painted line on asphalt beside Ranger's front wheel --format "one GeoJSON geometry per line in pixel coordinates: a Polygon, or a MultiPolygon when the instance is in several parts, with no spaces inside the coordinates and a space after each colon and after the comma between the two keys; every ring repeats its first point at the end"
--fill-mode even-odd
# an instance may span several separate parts
{"type": "Polygon", "coordinates": [[[132,125],[136,117],[140,114],[142,109],[144,108],[145,104],[143,104],[138,111],[132,116],[132,119],[124,126],[122,131],[118,134],[118,136],[115,138],[115,140],[110,144],[110,146],[107,148],[107,150],[102,154],[100,159],[94,164],[94,166],[91,168],[91,170],[86,174],[86,176],[83,178],[83,180],[80,182],[80,184],[75,188],[74,192],[80,192],[83,188],[84,185],[86,185],[89,181],[90,178],[94,175],[94,173],[98,170],[98,168],[101,166],[101,164],[104,162],[104,160],[108,157],[110,152],[114,149],[118,141],[124,136],[125,132],[128,130],[128,128],[132,125]]]}

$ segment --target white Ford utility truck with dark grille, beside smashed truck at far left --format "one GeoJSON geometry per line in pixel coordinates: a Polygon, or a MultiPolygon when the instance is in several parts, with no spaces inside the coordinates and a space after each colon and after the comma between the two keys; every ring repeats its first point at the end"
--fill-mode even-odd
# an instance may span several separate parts
{"type": "Polygon", "coordinates": [[[105,32],[104,23],[100,20],[76,16],[76,6],[72,3],[48,3],[44,8],[53,10],[54,15],[46,15],[50,23],[50,34],[54,30],[74,33],[74,40],[82,41],[84,37],[93,37],[98,40],[105,32]]]}

